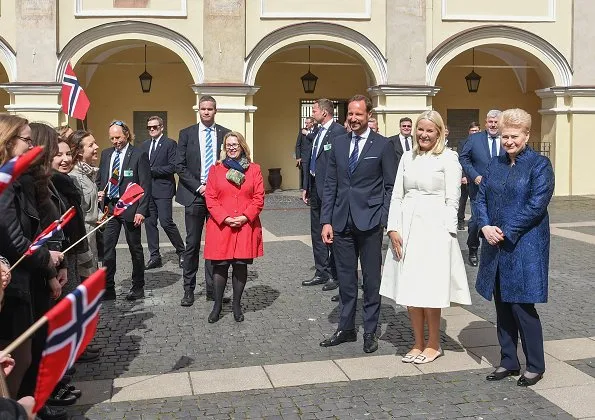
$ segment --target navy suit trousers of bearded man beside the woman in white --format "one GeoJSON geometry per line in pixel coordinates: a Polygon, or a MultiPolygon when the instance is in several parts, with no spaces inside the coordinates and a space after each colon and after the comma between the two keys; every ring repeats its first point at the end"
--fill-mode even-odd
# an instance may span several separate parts
{"type": "MultiPolygon", "coordinates": [[[[351,221],[351,217],[349,218],[351,221]]],[[[341,297],[340,330],[355,328],[357,308],[357,260],[362,267],[364,332],[374,333],[380,316],[380,266],[382,265],[381,226],[368,231],[358,230],[348,222],[343,232],[334,232],[333,252],[337,264],[341,297]]]]}

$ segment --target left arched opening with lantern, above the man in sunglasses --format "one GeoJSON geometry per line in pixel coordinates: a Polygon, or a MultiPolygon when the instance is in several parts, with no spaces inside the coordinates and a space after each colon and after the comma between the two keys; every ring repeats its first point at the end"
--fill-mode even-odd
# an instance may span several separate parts
{"type": "Polygon", "coordinates": [[[159,44],[140,39],[108,42],[86,52],[74,70],[91,102],[87,127],[97,134],[102,148],[110,146],[104,133],[114,119],[134,127],[137,142],[148,138],[149,115],[164,118],[166,134],[174,139],[181,128],[196,122],[192,75],[176,53],[159,44]],[[148,93],[143,93],[139,81],[145,70],[145,46],[146,68],[153,77],[148,93]]]}

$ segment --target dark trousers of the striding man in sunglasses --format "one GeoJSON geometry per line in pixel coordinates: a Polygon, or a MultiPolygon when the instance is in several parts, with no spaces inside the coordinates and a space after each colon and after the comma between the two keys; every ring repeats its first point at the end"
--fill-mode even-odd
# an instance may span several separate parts
{"type": "Polygon", "coordinates": [[[181,255],[184,252],[184,241],[180,236],[180,231],[174,223],[172,217],[172,199],[171,198],[153,198],[149,201],[149,217],[145,220],[145,231],[147,232],[147,245],[149,247],[150,258],[161,258],[159,253],[159,229],[157,229],[157,220],[165,231],[171,244],[176,249],[176,254],[181,255]]]}

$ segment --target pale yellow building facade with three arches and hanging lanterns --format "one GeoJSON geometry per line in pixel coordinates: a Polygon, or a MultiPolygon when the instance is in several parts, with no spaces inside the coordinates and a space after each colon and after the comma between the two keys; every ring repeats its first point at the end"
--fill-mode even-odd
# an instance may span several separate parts
{"type": "Polygon", "coordinates": [[[294,146],[313,99],[367,94],[387,136],[433,108],[455,142],[488,110],[521,107],[533,116],[532,145],[554,164],[556,194],[595,194],[592,22],[590,0],[0,0],[0,105],[67,121],[70,62],[91,101],[86,127],[107,147],[111,120],[134,124],[142,141],[151,113],[175,139],[212,95],[217,122],[245,133],[265,179],[281,168],[284,189],[299,187],[294,146]],[[309,68],[314,93],[300,80],[309,68]],[[477,93],[465,83],[471,70],[477,93]]]}

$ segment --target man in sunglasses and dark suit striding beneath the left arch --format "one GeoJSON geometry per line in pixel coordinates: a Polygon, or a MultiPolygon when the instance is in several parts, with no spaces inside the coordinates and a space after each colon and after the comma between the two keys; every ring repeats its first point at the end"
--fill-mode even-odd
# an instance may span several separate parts
{"type": "Polygon", "coordinates": [[[184,261],[184,241],[172,217],[172,198],[176,194],[176,148],[177,143],[163,136],[163,120],[153,116],[147,119],[147,130],[151,138],[145,140],[140,146],[141,150],[149,156],[151,167],[151,200],[149,201],[149,217],[145,221],[147,244],[150,257],[146,270],[162,266],[159,253],[159,230],[157,220],[167,234],[171,244],[178,254],[180,268],[184,261]]]}

